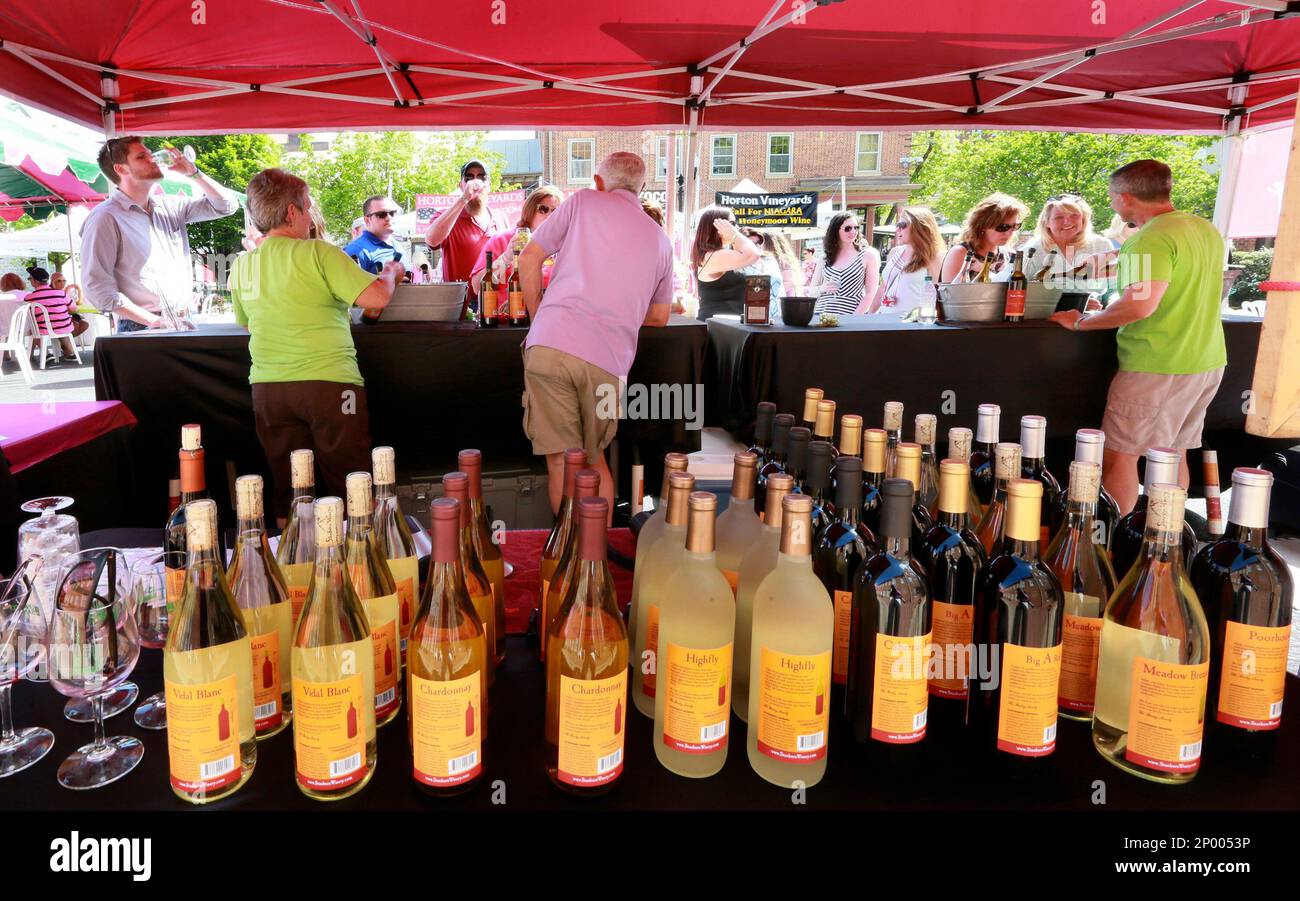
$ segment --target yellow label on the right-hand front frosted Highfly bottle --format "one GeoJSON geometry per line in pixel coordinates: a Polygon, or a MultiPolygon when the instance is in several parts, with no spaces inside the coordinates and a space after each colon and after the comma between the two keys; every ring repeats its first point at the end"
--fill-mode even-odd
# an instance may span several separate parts
{"type": "Polygon", "coordinates": [[[785,763],[811,763],[826,757],[831,720],[831,651],[759,653],[758,751],[785,763]]]}

